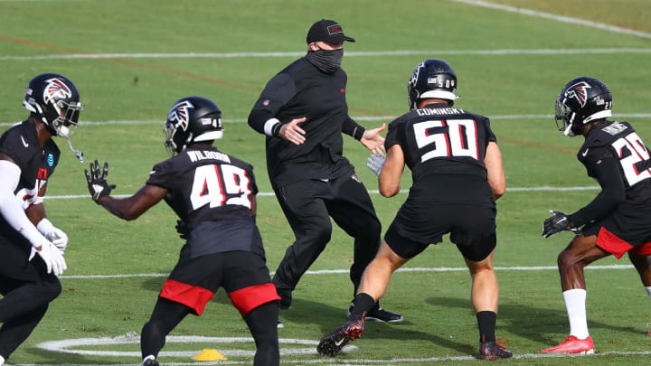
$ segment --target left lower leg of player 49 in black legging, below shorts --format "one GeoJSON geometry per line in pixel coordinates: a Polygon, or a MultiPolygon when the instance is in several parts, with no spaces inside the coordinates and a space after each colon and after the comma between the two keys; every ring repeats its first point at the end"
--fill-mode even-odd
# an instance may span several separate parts
{"type": "MultiPolygon", "coordinates": [[[[183,304],[158,297],[154,312],[152,312],[149,322],[143,326],[140,335],[143,364],[150,359],[156,361],[158,352],[165,346],[165,336],[172,332],[175,326],[191,312],[192,310],[183,304]]],[[[152,362],[151,364],[156,363],[152,362]]]]}

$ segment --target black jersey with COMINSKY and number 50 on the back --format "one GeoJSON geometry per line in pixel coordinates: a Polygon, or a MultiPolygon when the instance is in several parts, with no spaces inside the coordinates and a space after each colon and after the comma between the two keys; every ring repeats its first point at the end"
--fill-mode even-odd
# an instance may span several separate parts
{"type": "Polygon", "coordinates": [[[396,118],[384,142],[401,145],[414,182],[428,174],[476,174],[486,179],[486,146],[496,141],[487,117],[430,104],[396,118]]]}

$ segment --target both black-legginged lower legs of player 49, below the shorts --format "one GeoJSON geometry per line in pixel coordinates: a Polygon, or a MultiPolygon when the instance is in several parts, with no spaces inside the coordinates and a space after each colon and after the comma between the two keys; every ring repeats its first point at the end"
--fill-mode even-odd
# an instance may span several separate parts
{"type": "MultiPolygon", "coordinates": [[[[150,354],[158,357],[158,352],[165,346],[165,336],[172,332],[187,314],[193,314],[193,310],[183,304],[158,297],[151,319],[143,327],[140,337],[143,359],[150,354]]],[[[257,347],[253,359],[255,366],[277,366],[280,362],[277,314],[278,301],[271,301],[259,305],[244,316],[257,347]]]]}

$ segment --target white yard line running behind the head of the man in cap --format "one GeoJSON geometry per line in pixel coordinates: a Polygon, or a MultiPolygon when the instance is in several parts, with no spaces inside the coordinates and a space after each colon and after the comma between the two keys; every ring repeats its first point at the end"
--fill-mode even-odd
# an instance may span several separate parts
{"type": "MultiPolygon", "coordinates": [[[[0,0],[2,1],[2,0],[0,0]]],[[[345,57],[384,57],[421,55],[567,55],[567,54],[623,54],[651,53],[651,48],[583,48],[583,49],[497,49],[497,50],[402,50],[351,51],[345,57]]],[[[182,52],[182,53],[68,53],[36,56],[0,56],[0,61],[80,60],[80,59],[236,59],[269,57],[302,57],[305,52],[182,52]]]]}

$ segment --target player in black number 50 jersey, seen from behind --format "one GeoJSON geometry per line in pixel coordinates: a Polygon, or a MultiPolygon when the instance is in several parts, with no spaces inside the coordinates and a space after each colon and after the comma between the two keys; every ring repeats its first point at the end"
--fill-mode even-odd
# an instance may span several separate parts
{"type": "Polygon", "coordinates": [[[495,341],[495,200],[505,192],[495,135],[487,117],[453,107],[458,99],[457,75],[446,61],[423,61],[407,87],[410,112],[389,125],[386,158],[371,155],[368,166],[378,174],[385,197],[400,192],[405,165],[413,185],[380,251],[363,273],[348,322],[325,335],[317,351],[332,356],[362,336],[364,313],[384,295],[393,271],[451,233],[450,240],[457,244],[472,277],[478,356],[509,358],[513,353],[495,341]]]}

